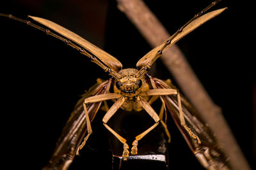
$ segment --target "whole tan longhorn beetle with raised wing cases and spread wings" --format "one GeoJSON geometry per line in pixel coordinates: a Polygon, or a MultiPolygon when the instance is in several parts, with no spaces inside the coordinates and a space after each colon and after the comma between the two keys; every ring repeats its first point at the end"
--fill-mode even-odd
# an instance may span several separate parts
{"type": "Polygon", "coordinates": [[[211,132],[202,121],[198,119],[195,121],[193,111],[189,109],[191,106],[180,96],[179,91],[173,87],[170,81],[159,80],[148,74],[148,70],[161,57],[164,50],[196,29],[196,27],[216,17],[226,9],[222,8],[204,14],[205,11],[209,10],[216,3],[218,1],[214,1],[211,5],[207,6],[207,8],[189,20],[187,24],[180,27],[173,36],[166,39],[164,43],[142,57],[136,64],[137,69],[122,69],[122,64],[115,57],[54,22],[45,20],[44,18],[29,16],[31,19],[56,33],[27,20],[22,20],[12,15],[0,14],[1,16],[24,22],[36,29],[44,31],[46,34],[60,39],[83,55],[89,57],[92,62],[100,66],[111,76],[106,81],[99,79],[97,84],[88,90],[77,103],[58,140],[58,145],[50,160],[51,166],[57,167],[58,169],[68,168],[75,155],[79,154],[79,150],[83,148],[92,134],[91,122],[99,110],[100,105],[104,103],[105,108],[108,108],[105,102],[107,100],[114,101],[114,104],[107,109],[106,115],[102,119],[103,125],[123,144],[124,150],[122,157],[124,157],[124,160],[127,160],[129,155],[136,155],[138,153],[140,140],[159,125],[159,123],[165,127],[166,134],[169,136],[166,122],[163,120],[163,112],[157,114],[151,106],[154,101],[160,99],[163,103],[164,110],[170,111],[175,124],[179,127],[180,132],[200,163],[209,169],[228,169],[225,157],[218,150],[217,146],[215,146],[216,140],[211,136],[211,132]],[[113,86],[113,92],[110,90],[111,85],[113,86]],[[145,110],[155,122],[150,128],[138,134],[130,147],[126,143],[127,139],[123,138],[121,134],[118,134],[115,129],[112,129],[108,125],[109,119],[113,117],[118,109],[127,111],[145,110]]]}

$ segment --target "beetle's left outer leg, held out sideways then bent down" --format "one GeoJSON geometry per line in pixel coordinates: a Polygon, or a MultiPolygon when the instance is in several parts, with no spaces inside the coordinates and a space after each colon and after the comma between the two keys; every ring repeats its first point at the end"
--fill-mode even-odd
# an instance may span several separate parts
{"type": "Polygon", "coordinates": [[[78,147],[76,155],[79,155],[79,150],[81,150],[83,148],[83,146],[86,144],[86,141],[89,138],[90,134],[92,134],[92,126],[91,126],[91,121],[90,121],[88,111],[86,108],[86,103],[97,103],[100,101],[106,101],[108,99],[117,99],[120,97],[121,97],[120,94],[108,93],[108,94],[100,94],[97,96],[92,96],[92,97],[88,97],[88,98],[84,99],[83,107],[84,107],[84,114],[85,114],[85,118],[86,118],[86,126],[87,126],[88,134],[84,138],[83,143],[81,143],[81,145],[78,147]]]}

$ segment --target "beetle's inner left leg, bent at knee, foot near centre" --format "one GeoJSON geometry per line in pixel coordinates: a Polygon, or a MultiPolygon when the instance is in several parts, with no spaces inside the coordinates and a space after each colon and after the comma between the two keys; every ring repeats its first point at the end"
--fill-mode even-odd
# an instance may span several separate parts
{"type": "Polygon", "coordinates": [[[109,108],[108,112],[106,113],[106,115],[103,117],[102,121],[103,121],[103,125],[108,129],[109,132],[111,132],[121,143],[124,144],[124,152],[122,154],[122,157],[124,157],[124,160],[127,160],[127,157],[129,156],[129,146],[126,143],[126,139],[124,139],[122,136],[120,136],[120,134],[118,134],[117,132],[115,132],[113,129],[111,129],[111,127],[109,127],[107,125],[108,120],[113,117],[113,115],[116,113],[116,111],[122,106],[122,104],[125,101],[125,97],[121,97],[120,99],[118,99],[113,106],[111,106],[111,108],[109,108]]]}

